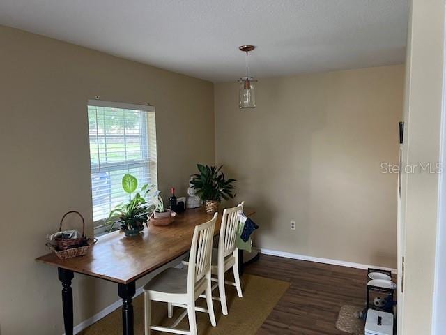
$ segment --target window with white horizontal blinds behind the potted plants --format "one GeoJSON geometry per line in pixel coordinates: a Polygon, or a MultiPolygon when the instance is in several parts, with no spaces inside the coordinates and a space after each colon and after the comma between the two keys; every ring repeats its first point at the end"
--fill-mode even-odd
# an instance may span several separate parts
{"type": "Polygon", "coordinates": [[[130,199],[121,186],[124,174],[137,177],[139,186],[157,185],[155,108],[89,100],[88,117],[91,198],[97,234],[110,211],[130,199]]]}

